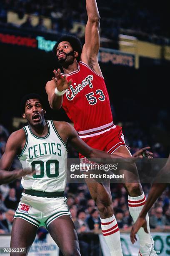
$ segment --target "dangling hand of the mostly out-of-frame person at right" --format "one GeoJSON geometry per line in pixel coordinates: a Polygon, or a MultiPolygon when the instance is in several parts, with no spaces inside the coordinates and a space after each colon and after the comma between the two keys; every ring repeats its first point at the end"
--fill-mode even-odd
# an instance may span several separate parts
{"type": "Polygon", "coordinates": [[[134,244],[135,241],[137,241],[136,238],[136,233],[138,233],[138,230],[140,228],[144,228],[145,232],[148,233],[148,229],[147,229],[147,222],[145,218],[141,218],[138,217],[138,219],[136,220],[135,224],[133,225],[131,232],[130,232],[130,240],[131,242],[134,244]]]}

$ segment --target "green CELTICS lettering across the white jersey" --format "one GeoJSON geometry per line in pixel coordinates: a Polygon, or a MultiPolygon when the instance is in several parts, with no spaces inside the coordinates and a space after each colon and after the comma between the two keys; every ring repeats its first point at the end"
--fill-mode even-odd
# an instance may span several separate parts
{"type": "Polygon", "coordinates": [[[44,155],[58,155],[61,156],[61,144],[55,142],[45,142],[41,144],[35,144],[28,148],[29,159],[36,158],[44,155]]]}

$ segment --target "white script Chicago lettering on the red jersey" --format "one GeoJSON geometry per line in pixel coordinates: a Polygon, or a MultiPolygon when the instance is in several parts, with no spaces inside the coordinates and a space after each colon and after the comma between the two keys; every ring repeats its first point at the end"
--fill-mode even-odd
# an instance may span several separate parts
{"type": "Polygon", "coordinates": [[[93,80],[93,75],[88,75],[85,77],[85,79],[82,80],[82,82],[78,85],[74,83],[75,88],[73,88],[72,85],[70,85],[70,88],[66,90],[66,97],[68,100],[73,100],[74,97],[86,86],[89,85],[90,88],[92,88],[91,81],[93,80]]]}

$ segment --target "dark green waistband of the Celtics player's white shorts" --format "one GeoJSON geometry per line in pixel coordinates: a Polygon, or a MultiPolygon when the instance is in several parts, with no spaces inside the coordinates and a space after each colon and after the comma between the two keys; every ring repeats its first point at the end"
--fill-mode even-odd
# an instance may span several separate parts
{"type": "Polygon", "coordinates": [[[61,192],[44,192],[39,190],[33,190],[33,189],[25,189],[25,194],[33,195],[36,197],[64,197],[64,191],[61,192]]]}

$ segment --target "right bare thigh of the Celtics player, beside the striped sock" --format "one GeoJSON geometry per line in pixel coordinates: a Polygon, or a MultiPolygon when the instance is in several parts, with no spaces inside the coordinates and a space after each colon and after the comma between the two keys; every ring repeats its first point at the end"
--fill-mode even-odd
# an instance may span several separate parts
{"type": "Polygon", "coordinates": [[[80,255],[77,233],[70,216],[63,215],[53,220],[48,231],[63,255],[80,255]]]}

